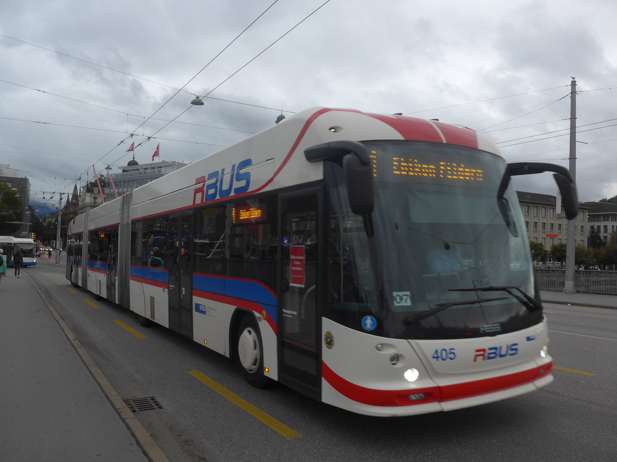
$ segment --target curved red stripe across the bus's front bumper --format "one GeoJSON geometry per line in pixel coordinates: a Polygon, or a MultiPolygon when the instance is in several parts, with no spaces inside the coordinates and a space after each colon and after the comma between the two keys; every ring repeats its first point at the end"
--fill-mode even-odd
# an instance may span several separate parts
{"type": "Polygon", "coordinates": [[[484,395],[532,382],[550,374],[553,364],[535,367],[514,374],[474,380],[471,382],[409,388],[404,390],[376,390],[356,385],[337,375],[325,362],[321,362],[321,375],[337,392],[358,403],[371,406],[408,406],[428,402],[444,402],[484,395]],[[424,399],[409,400],[410,394],[424,393],[424,399]]]}

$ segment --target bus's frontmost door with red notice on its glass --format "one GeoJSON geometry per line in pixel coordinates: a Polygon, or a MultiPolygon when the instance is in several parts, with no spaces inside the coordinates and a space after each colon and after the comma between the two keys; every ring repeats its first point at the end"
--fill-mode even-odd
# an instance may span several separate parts
{"type": "Polygon", "coordinates": [[[318,297],[320,191],[280,196],[279,381],[321,398],[318,297]]]}

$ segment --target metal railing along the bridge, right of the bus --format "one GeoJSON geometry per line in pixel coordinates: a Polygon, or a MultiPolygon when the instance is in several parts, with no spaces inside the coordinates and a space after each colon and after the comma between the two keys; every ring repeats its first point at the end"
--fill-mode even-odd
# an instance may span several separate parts
{"type": "MultiPolygon", "coordinates": [[[[565,285],[565,270],[535,269],[539,290],[560,292],[565,285]]],[[[617,271],[574,271],[574,290],[579,293],[617,295],[617,271]]]]}

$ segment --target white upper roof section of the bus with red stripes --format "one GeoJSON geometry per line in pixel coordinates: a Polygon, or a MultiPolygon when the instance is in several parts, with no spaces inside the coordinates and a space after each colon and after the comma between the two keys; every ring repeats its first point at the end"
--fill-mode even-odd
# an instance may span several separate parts
{"type": "MultiPolygon", "coordinates": [[[[136,188],[131,195],[131,220],[321,179],[321,164],[307,162],[304,149],[334,140],[418,140],[499,155],[491,140],[462,126],[354,109],[310,108],[136,188]]],[[[88,228],[117,224],[121,200],[90,211],[88,228]]]]}

